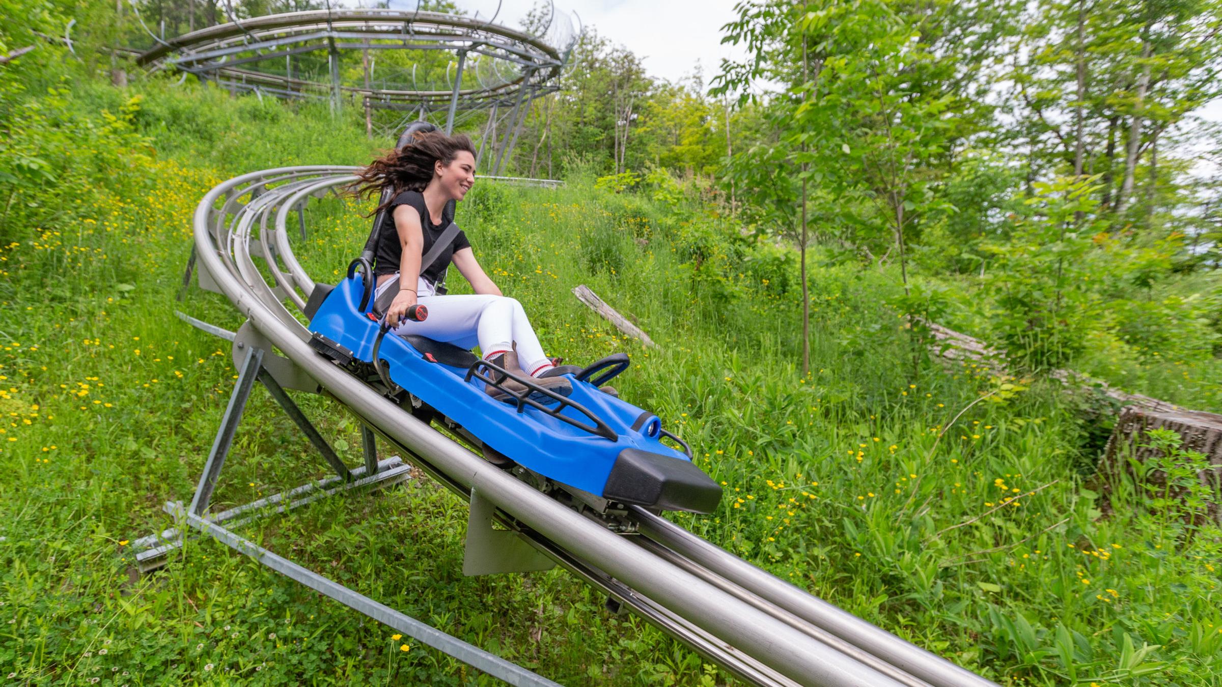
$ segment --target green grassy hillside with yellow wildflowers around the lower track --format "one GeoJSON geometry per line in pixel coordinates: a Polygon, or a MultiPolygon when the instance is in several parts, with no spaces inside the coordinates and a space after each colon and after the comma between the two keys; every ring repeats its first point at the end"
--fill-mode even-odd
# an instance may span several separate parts
{"type": "MultiPolygon", "coordinates": [[[[0,664],[33,683],[490,683],[213,543],[143,579],[131,539],[186,498],[233,383],[224,298],[175,303],[189,215],[219,181],[359,164],[356,121],[154,83],[82,82],[23,112],[51,160],[0,224],[0,664]],[[37,191],[34,193],[33,191],[37,191]],[[16,209],[13,209],[16,208],[16,209]],[[404,647],[407,647],[404,649],[404,647]]],[[[20,101],[13,97],[10,103],[20,101]]],[[[11,106],[11,105],[10,105],[11,106]]],[[[13,148],[15,149],[15,148],[13,148]]],[[[6,154],[15,154],[12,149],[6,154]]],[[[303,264],[337,280],[368,205],[319,202],[303,264]]],[[[478,182],[459,207],[477,255],[545,348],[634,361],[616,386],[725,484],[692,531],[1002,683],[1222,683],[1216,529],[1185,529],[1122,482],[1111,518],[1084,487],[1097,418],[1039,380],[913,368],[893,275],[818,266],[811,374],[799,374],[789,252],[667,188],[617,194],[478,182]],[[657,341],[643,351],[569,293],[587,284],[657,341]]],[[[463,292],[457,274],[455,292],[463,292]]],[[[349,462],[357,425],[301,399],[349,462]]],[[[218,507],[325,473],[252,396],[218,507]]],[[[466,507],[430,484],[332,499],[248,535],[562,683],[726,677],[562,572],[464,578],[466,507]]]]}

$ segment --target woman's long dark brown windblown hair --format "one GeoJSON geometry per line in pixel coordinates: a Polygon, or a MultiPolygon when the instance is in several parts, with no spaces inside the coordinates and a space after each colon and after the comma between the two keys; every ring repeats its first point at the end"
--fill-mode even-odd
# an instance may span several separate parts
{"type": "Polygon", "coordinates": [[[386,208],[403,191],[424,191],[433,181],[433,167],[437,160],[446,166],[455,160],[459,150],[475,155],[475,145],[464,133],[447,136],[440,131],[417,132],[412,142],[402,148],[389,150],[381,158],[357,171],[357,181],[348,188],[357,197],[374,197],[390,188],[386,202],[374,209],[378,213],[386,208]]]}

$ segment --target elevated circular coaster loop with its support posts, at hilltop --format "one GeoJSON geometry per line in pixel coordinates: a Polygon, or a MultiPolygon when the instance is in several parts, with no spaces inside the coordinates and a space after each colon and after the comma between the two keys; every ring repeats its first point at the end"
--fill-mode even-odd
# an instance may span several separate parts
{"type": "MultiPolygon", "coordinates": [[[[137,53],[136,62],[150,71],[193,73],[235,93],[254,93],[259,99],[266,94],[329,100],[332,112],[346,101],[359,104],[370,137],[374,110],[414,112],[419,120],[444,111],[446,133],[474,112],[489,111],[492,150],[485,159],[492,175],[501,174],[502,163],[512,160],[530,104],[560,88],[558,79],[579,38],[567,20],[549,31],[556,18],[555,7],[541,32],[547,35],[533,35],[491,20],[391,9],[332,7],[241,20],[232,11],[227,15],[229,23],[167,40],[145,27],[155,44],[137,53]],[[420,53],[426,50],[441,55],[426,57],[428,53],[420,53]],[[387,65],[375,76],[378,54],[384,51],[391,51],[386,54],[387,65]],[[404,62],[396,55],[403,51],[415,54],[404,62]],[[445,55],[451,51],[452,59],[445,55]],[[442,57],[445,81],[437,73],[442,57]],[[345,62],[348,67],[359,65],[363,75],[342,77],[345,62]],[[417,83],[417,67],[430,62],[434,68],[428,82],[417,83]],[[298,64],[297,70],[293,64],[298,64]],[[496,117],[499,109],[503,122],[496,117]],[[503,112],[510,114],[506,117],[503,112]]],[[[396,123],[392,130],[401,126],[396,123]]],[[[485,130],[480,137],[481,150],[488,133],[485,130]]]]}

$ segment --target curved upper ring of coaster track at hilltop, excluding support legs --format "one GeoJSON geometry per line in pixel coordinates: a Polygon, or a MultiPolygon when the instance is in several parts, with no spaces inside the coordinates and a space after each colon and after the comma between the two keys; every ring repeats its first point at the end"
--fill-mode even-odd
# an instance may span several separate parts
{"type": "Polygon", "coordinates": [[[387,9],[309,10],[233,20],[194,31],[159,42],[141,53],[137,62],[174,66],[233,87],[270,93],[325,94],[337,87],[375,105],[431,109],[457,99],[463,109],[492,103],[512,106],[519,90],[541,93],[554,88],[551,82],[560,76],[576,33],[568,27],[552,34],[550,39],[558,48],[530,33],[474,17],[387,9]],[[384,65],[379,75],[390,76],[375,76],[370,82],[367,65],[365,83],[340,84],[337,71],[331,81],[316,81],[295,77],[290,66],[299,55],[404,49],[453,50],[466,55],[467,78],[461,84],[466,88],[450,70],[447,82],[420,84],[414,68],[407,72],[384,65]]]}

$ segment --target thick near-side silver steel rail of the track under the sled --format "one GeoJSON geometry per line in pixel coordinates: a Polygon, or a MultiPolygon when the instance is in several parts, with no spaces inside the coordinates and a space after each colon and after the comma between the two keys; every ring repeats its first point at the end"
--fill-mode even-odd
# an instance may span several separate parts
{"type": "MultiPolygon", "coordinates": [[[[659,561],[623,540],[605,527],[590,522],[518,479],[501,472],[470,451],[450,441],[387,399],[329,361],[316,356],[304,342],[308,332],[301,324],[287,326],[285,308],[271,296],[266,282],[254,270],[243,241],[235,242],[233,271],[225,266],[218,249],[209,215],[214,203],[235,188],[260,185],[263,177],[285,172],[325,171],[325,167],[297,167],[253,172],[230,180],[211,189],[200,202],[194,218],[198,257],[218,287],[240,313],[290,359],[315,379],[343,405],[365,417],[397,444],[426,457],[441,472],[466,488],[477,484],[483,494],[508,515],[533,531],[552,539],[580,559],[605,561],[606,572],[634,589],[687,617],[698,627],[736,645],[760,663],[799,683],[814,685],[898,685],[877,671],[810,639],[792,627],[771,619],[748,604],[706,582],[659,561]],[[247,264],[242,264],[247,263],[247,264]],[[247,274],[240,279],[235,273],[247,274]],[[255,279],[258,277],[258,279],[255,279]],[[262,288],[251,281],[260,281],[262,288]],[[285,314],[279,314],[280,310],[285,314]]],[[[232,200],[232,198],[231,198],[232,200]]],[[[246,213],[243,213],[246,214],[246,213]]],[[[222,225],[219,219],[215,224],[222,225]]],[[[240,221],[240,227],[249,227],[240,221]]],[[[242,229],[242,231],[246,231],[242,229]]],[[[229,242],[226,242],[229,243],[229,242]]]]}

